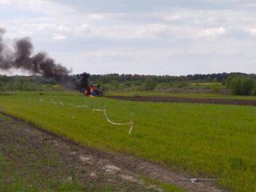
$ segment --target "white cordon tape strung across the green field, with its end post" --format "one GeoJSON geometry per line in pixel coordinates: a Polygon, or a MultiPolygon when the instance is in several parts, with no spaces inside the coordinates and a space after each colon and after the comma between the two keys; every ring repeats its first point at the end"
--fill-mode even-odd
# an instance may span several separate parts
{"type": "MultiPolygon", "coordinates": [[[[51,96],[48,96],[48,97],[46,97],[45,99],[47,99],[47,98],[49,98],[49,97],[51,97],[51,96]]],[[[44,99],[40,99],[40,102],[47,102],[47,101],[44,101],[44,99]]],[[[65,106],[65,104],[63,104],[62,101],[60,101],[60,102],[54,102],[54,101],[51,99],[50,102],[51,102],[52,104],[61,104],[62,106],[65,106]]],[[[131,124],[131,128],[130,128],[130,130],[129,130],[129,134],[131,134],[131,132],[133,131],[132,115],[131,115],[131,122],[125,123],[125,124],[120,124],[120,123],[115,123],[115,122],[112,122],[111,120],[109,120],[109,118],[108,118],[108,116],[107,116],[107,114],[106,114],[106,109],[93,109],[93,108],[90,108],[89,106],[86,106],[86,105],[84,105],[84,106],[76,106],[76,105],[74,105],[74,104],[72,104],[72,103],[69,103],[69,104],[67,104],[67,105],[68,105],[68,106],[73,106],[73,107],[75,107],[75,108],[88,108],[88,109],[91,109],[92,111],[103,111],[104,116],[106,117],[106,120],[108,120],[108,122],[109,122],[110,124],[114,124],[114,125],[129,125],[129,124],[131,124]]]]}

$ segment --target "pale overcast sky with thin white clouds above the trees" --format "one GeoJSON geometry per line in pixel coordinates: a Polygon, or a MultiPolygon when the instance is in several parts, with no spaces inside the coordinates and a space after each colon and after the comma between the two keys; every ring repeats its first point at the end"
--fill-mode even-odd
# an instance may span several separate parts
{"type": "Polygon", "coordinates": [[[0,27],[74,73],[256,73],[255,0],[0,0],[0,27]]]}

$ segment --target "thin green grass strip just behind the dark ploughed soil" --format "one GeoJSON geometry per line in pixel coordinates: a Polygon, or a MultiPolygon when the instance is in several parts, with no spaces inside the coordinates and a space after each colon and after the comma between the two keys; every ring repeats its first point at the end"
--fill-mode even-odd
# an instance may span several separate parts
{"type": "Polygon", "coordinates": [[[209,99],[239,99],[239,100],[256,100],[256,96],[246,95],[220,95],[214,93],[169,93],[169,92],[125,92],[109,91],[106,96],[134,96],[140,95],[145,97],[191,97],[191,98],[209,98],[209,99]]]}

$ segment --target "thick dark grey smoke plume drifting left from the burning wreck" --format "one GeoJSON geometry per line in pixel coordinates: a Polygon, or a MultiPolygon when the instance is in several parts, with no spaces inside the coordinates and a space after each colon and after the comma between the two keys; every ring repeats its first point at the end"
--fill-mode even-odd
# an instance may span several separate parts
{"type": "Polygon", "coordinates": [[[33,44],[28,37],[17,40],[13,47],[14,51],[10,51],[4,44],[4,33],[5,29],[0,28],[0,70],[12,68],[26,70],[33,75],[51,78],[58,83],[79,90],[88,86],[89,74],[70,76],[71,70],[56,63],[45,52],[33,54],[33,44]]]}

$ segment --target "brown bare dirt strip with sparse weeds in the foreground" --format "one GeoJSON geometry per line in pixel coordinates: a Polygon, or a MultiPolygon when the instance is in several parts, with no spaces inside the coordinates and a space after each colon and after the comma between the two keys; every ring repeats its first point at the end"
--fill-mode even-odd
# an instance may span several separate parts
{"type": "Polygon", "coordinates": [[[76,177],[76,182],[81,185],[97,183],[113,186],[117,191],[163,191],[156,184],[148,184],[141,179],[141,175],[147,175],[188,191],[223,191],[213,181],[192,183],[184,179],[195,177],[186,173],[172,172],[165,166],[126,154],[108,154],[81,146],[22,120],[0,114],[1,154],[17,162],[13,169],[19,170],[24,178],[29,178],[28,170],[32,170],[38,172],[41,180],[54,177],[68,182],[76,177]],[[70,172],[72,168],[73,174],[70,172]]]}

